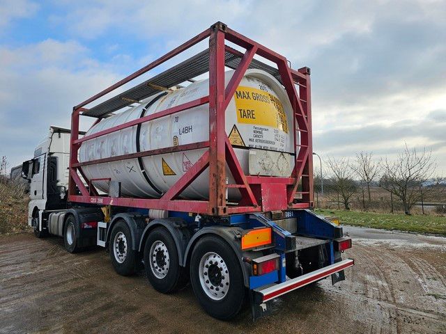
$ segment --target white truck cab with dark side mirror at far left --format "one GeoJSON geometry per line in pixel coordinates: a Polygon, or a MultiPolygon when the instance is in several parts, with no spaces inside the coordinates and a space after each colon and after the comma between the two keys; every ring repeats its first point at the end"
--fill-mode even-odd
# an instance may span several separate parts
{"type": "Polygon", "coordinates": [[[51,126],[33,159],[22,165],[22,177],[30,182],[28,224],[36,232],[42,232],[43,210],[66,209],[69,159],[70,129],[51,126]]]}

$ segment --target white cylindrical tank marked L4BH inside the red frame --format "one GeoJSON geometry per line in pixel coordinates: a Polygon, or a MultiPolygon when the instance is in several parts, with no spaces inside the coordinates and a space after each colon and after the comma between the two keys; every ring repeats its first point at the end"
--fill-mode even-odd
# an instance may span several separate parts
{"type": "MultiPolygon", "coordinates": [[[[233,72],[225,72],[226,85],[233,72]]],[[[142,101],[138,106],[101,120],[89,129],[86,136],[208,94],[208,79],[196,81],[185,88],[164,91],[142,101]]],[[[279,81],[261,70],[247,70],[226,109],[226,134],[246,175],[291,175],[294,167],[293,121],[293,109],[279,81]]],[[[79,161],[208,140],[209,105],[203,104],[84,141],[79,149],[79,161]]],[[[160,198],[206,150],[203,148],[92,164],[83,166],[82,170],[89,180],[111,178],[121,182],[122,196],[160,198]]],[[[208,198],[208,174],[206,169],[181,193],[181,197],[208,198]]],[[[234,183],[227,166],[226,177],[229,184],[234,183]]],[[[108,192],[107,181],[97,181],[94,185],[108,192]]],[[[238,200],[239,191],[229,189],[228,198],[238,200]]]]}

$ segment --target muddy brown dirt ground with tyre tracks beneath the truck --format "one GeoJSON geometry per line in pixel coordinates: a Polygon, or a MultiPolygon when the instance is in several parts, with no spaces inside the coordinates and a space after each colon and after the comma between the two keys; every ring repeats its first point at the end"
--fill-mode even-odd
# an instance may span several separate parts
{"type": "Polygon", "coordinates": [[[186,287],[155,292],[141,274],[125,278],[108,255],[67,253],[57,237],[0,236],[0,333],[446,333],[446,238],[344,228],[355,259],[346,281],[323,280],[217,321],[186,287]]]}

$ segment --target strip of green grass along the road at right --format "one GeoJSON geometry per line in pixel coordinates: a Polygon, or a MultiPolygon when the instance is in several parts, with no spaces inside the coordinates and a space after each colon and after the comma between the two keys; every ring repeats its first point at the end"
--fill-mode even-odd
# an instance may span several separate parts
{"type": "Polygon", "coordinates": [[[323,216],[336,216],[341,220],[341,224],[346,225],[446,236],[446,217],[441,216],[406,216],[405,214],[377,214],[333,209],[315,209],[314,212],[323,216]]]}

